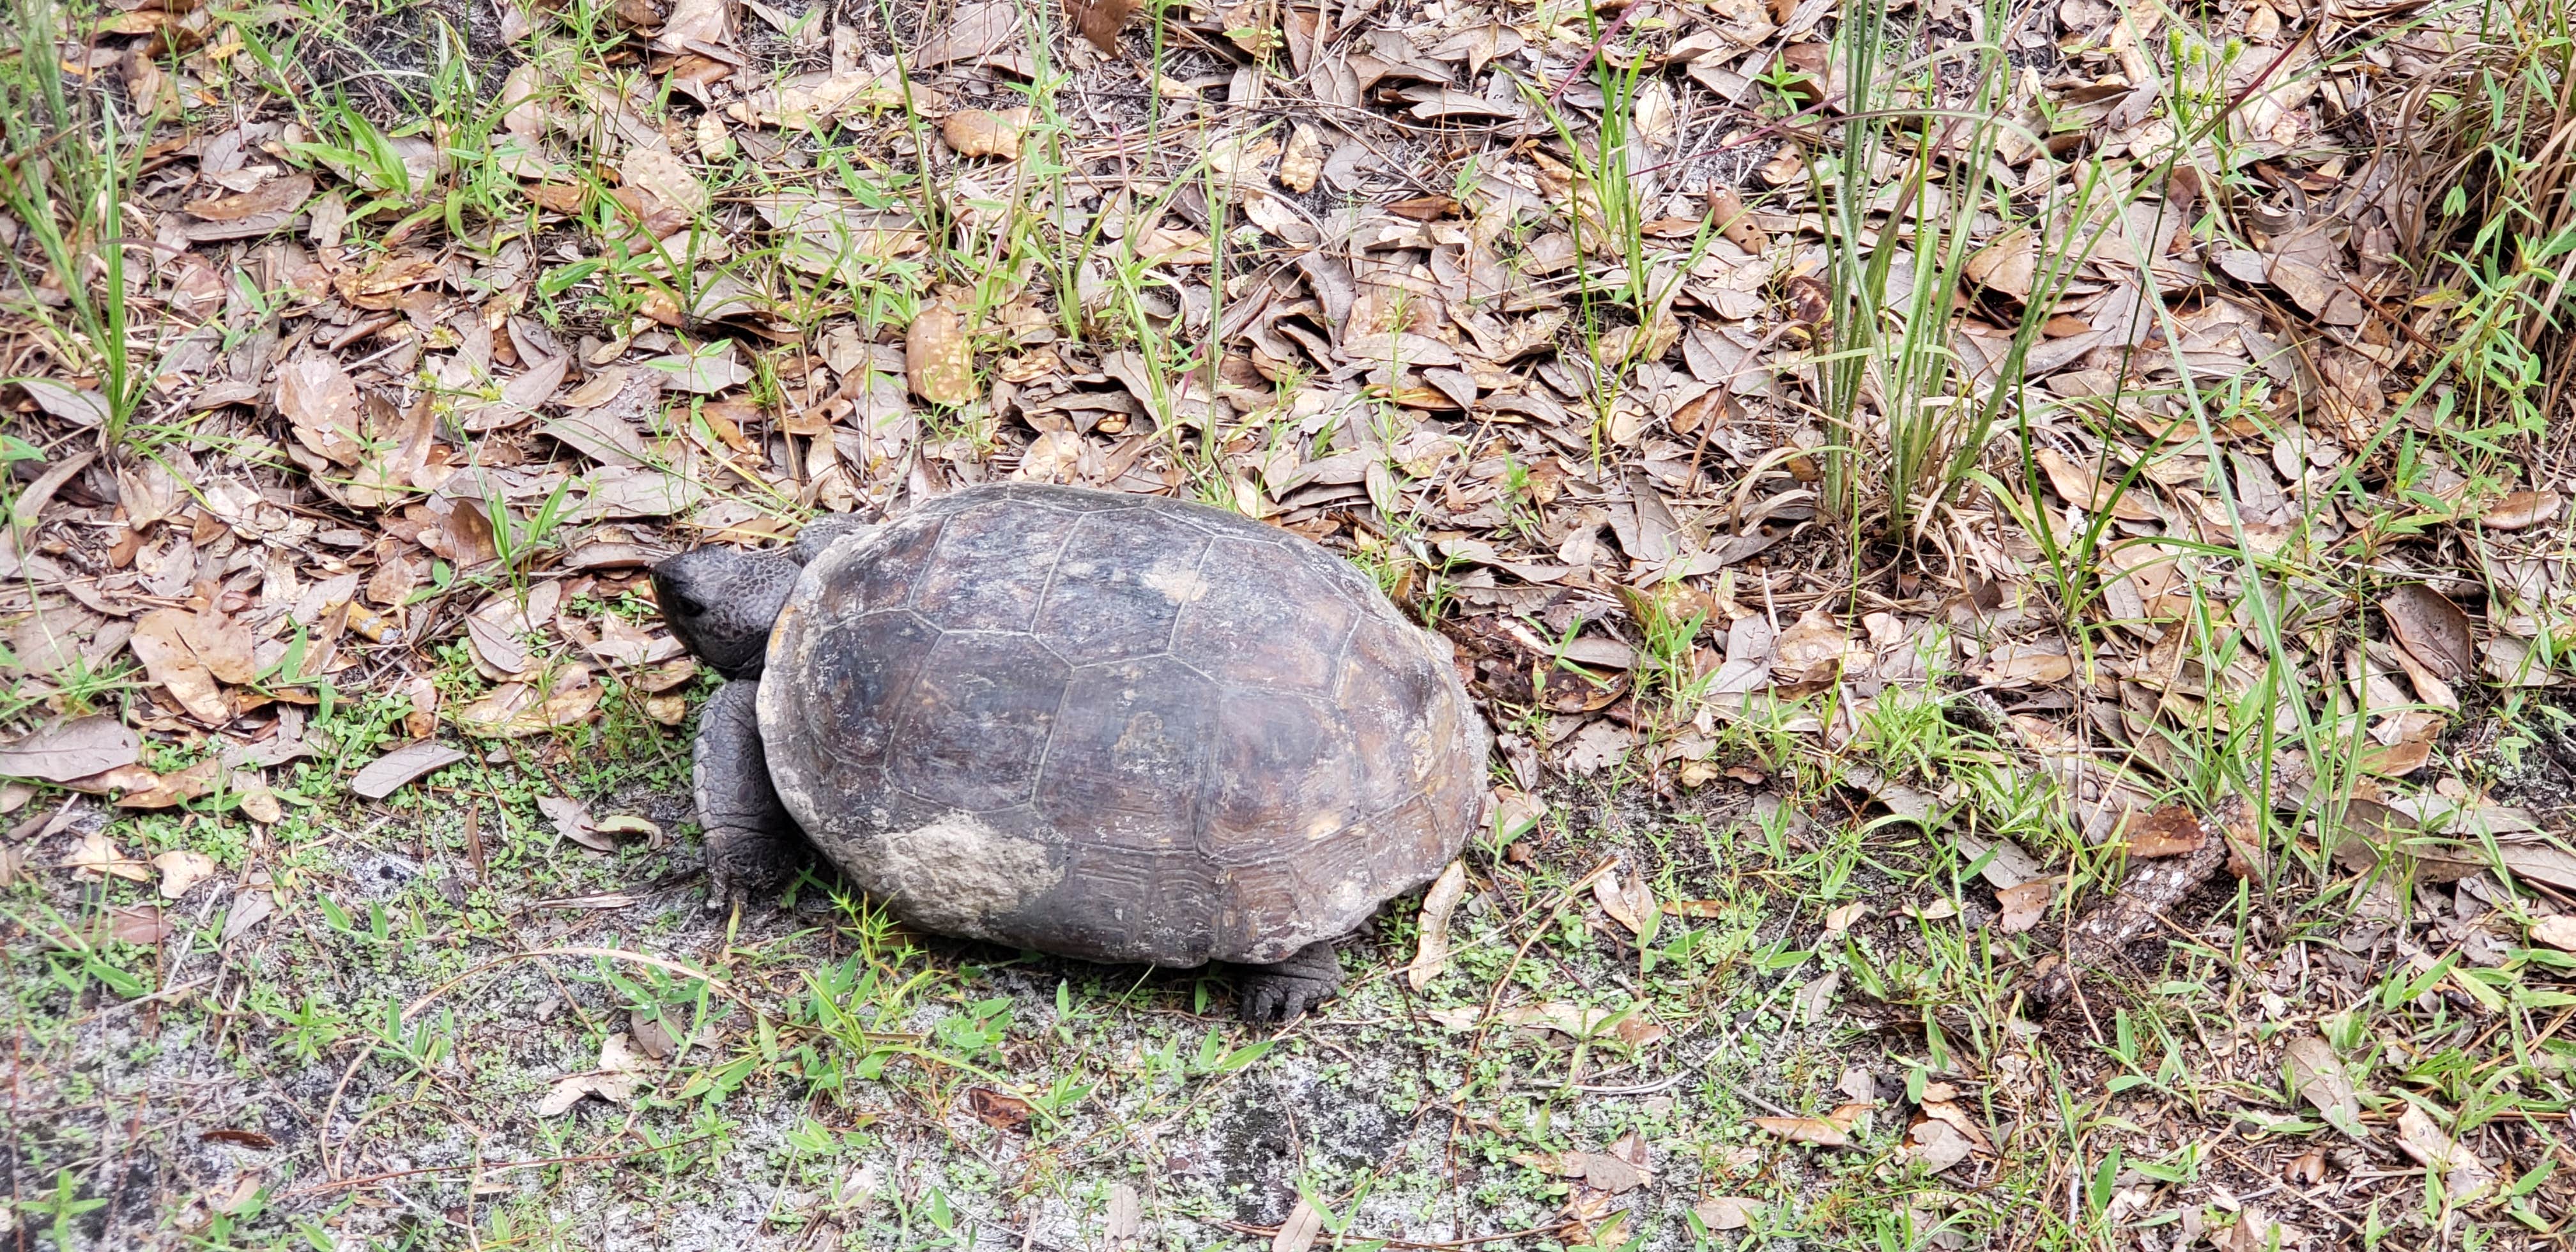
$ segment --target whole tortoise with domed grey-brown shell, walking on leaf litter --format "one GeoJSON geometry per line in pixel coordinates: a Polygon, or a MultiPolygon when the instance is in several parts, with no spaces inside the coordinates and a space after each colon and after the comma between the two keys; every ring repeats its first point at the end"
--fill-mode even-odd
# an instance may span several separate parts
{"type": "Polygon", "coordinates": [[[1242,1012],[1285,1020],[1484,806],[1450,644],[1236,513],[984,484],[652,587],[726,678],[693,768],[708,907],[793,873],[801,830],[914,927],[1234,963],[1242,1012]]]}

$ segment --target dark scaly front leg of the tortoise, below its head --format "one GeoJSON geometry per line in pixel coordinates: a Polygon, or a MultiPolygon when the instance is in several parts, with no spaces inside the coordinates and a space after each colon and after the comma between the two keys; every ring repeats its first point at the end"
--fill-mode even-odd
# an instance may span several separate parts
{"type": "Polygon", "coordinates": [[[750,891],[788,881],[804,863],[804,840],[770,786],[770,760],[760,750],[757,698],[760,683],[737,678],[698,714],[690,788],[706,830],[708,909],[742,904],[750,891]]]}

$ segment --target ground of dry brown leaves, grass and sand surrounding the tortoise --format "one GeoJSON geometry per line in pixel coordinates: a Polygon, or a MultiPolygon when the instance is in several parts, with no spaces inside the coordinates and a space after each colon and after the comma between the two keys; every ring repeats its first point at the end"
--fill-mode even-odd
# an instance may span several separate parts
{"type": "Polygon", "coordinates": [[[5,3],[8,1247],[2566,1239],[2563,5],[5,3]],[[999,479],[1453,644],[1337,1000],[711,907],[999,479]]]}

